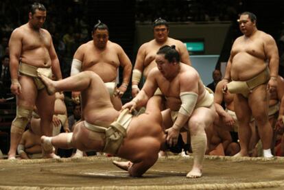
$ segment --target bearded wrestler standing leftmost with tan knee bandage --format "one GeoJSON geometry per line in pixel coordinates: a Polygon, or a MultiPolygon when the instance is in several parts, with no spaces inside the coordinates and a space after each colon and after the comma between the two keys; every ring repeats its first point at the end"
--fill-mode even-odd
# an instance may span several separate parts
{"type": "MultiPolygon", "coordinates": [[[[54,73],[57,80],[61,80],[62,75],[51,35],[46,29],[41,28],[46,16],[45,6],[33,3],[29,12],[29,21],[14,29],[10,37],[11,92],[16,95],[17,108],[16,118],[11,126],[9,159],[16,156],[16,148],[21,141],[25,126],[32,117],[35,105],[41,118],[42,134],[52,135],[51,121],[54,115],[55,97],[47,95],[37,72],[42,72],[49,78],[54,73]]],[[[43,152],[43,154],[49,158],[56,156],[54,153],[43,152]]]]}

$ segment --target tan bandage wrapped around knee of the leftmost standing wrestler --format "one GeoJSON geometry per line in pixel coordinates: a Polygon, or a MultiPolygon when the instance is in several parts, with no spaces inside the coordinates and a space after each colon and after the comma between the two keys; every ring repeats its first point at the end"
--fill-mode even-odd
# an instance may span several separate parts
{"type": "Polygon", "coordinates": [[[24,108],[22,106],[16,107],[16,117],[12,121],[11,132],[23,134],[25,126],[29,123],[32,117],[32,109],[24,108]]]}

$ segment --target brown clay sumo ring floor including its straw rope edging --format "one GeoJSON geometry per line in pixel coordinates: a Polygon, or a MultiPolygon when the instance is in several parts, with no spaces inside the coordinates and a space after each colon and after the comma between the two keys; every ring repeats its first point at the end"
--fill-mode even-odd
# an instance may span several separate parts
{"type": "Polygon", "coordinates": [[[192,157],[159,158],[142,178],[112,164],[115,157],[2,160],[0,189],[284,189],[284,159],[206,156],[202,178],[185,176],[192,157]]]}

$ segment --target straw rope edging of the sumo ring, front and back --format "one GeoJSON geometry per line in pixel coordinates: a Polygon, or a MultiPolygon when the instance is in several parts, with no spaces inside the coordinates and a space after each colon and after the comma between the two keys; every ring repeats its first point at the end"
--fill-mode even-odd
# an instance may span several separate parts
{"type": "MultiPolygon", "coordinates": [[[[192,160],[193,156],[167,156],[158,158],[158,161],[178,161],[178,160],[192,160]]],[[[284,163],[284,157],[233,157],[233,156],[205,156],[208,160],[218,161],[256,161],[256,162],[271,162],[271,163],[284,163]]],[[[69,162],[86,162],[86,161],[114,161],[121,160],[118,157],[106,156],[86,156],[82,158],[57,158],[57,159],[33,159],[33,160],[0,160],[0,164],[16,163],[16,164],[32,164],[32,163],[69,163],[69,162]]],[[[237,183],[213,183],[213,184],[196,184],[196,185],[145,185],[145,186],[104,186],[104,187],[20,187],[20,186],[1,186],[1,189],[55,189],[55,190],[76,190],[76,189],[258,189],[258,188],[271,188],[271,187],[284,187],[284,180],[272,180],[268,182],[237,182],[237,183]]]]}

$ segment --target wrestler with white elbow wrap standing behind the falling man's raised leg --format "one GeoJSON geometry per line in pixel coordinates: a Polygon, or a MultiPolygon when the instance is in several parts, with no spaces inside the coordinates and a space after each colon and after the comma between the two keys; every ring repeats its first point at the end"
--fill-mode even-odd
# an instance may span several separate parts
{"type": "MultiPolygon", "coordinates": [[[[113,88],[111,102],[116,110],[121,110],[121,97],[126,92],[131,77],[132,64],[120,45],[108,40],[108,26],[97,23],[93,27],[93,40],[81,45],[73,56],[71,75],[81,71],[93,71],[106,83],[116,85],[117,69],[123,67],[123,82],[119,88],[113,88]]],[[[78,99],[80,93],[73,92],[72,97],[78,99]]]]}

